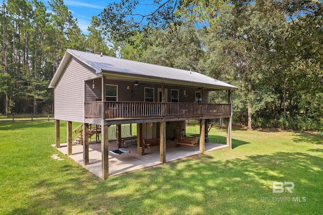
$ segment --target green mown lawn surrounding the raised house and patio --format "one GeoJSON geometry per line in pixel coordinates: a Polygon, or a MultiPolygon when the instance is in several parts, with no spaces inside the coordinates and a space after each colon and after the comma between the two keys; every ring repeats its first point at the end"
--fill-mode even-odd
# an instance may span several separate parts
{"type": "MultiPolygon", "coordinates": [[[[225,136],[210,131],[210,139],[225,136]]],[[[232,138],[233,150],[102,181],[51,146],[52,121],[0,122],[0,214],[321,214],[321,135],[234,129],[232,138]],[[275,181],[293,182],[293,193],[273,193],[275,181]]]]}

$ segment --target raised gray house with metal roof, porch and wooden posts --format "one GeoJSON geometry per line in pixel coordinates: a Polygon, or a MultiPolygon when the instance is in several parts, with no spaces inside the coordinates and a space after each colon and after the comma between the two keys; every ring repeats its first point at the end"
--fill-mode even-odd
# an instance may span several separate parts
{"type": "Polygon", "coordinates": [[[56,147],[60,147],[60,120],[68,122],[69,155],[72,122],[82,123],[83,165],[88,165],[90,126],[99,126],[102,179],[109,177],[109,135],[114,133],[120,147],[126,124],[137,124],[138,154],[144,154],[144,139],[159,138],[163,163],[166,140],[181,140],[186,120],[199,120],[203,153],[207,122],[227,118],[227,145],[231,147],[231,92],[237,87],[197,72],[67,49],[49,88],[54,88],[56,147]],[[209,92],[215,90],[227,91],[228,102],[208,103],[209,92]]]}

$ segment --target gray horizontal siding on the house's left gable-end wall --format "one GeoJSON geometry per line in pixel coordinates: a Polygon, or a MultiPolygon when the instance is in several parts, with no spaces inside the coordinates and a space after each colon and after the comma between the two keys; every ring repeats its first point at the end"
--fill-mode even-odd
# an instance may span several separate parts
{"type": "Polygon", "coordinates": [[[55,87],[54,114],[57,120],[83,122],[84,81],[95,78],[95,70],[72,58],[55,87]]]}

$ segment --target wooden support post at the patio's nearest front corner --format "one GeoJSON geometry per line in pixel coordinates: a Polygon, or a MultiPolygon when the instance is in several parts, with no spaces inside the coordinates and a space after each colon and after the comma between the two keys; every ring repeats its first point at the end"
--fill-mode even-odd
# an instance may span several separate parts
{"type": "Polygon", "coordinates": [[[109,178],[109,126],[101,126],[102,176],[109,178]]]}

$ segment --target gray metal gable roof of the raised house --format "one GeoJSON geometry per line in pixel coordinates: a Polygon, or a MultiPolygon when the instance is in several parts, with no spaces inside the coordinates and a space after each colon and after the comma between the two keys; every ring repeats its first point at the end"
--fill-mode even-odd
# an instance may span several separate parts
{"type": "Polygon", "coordinates": [[[136,80],[151,80],[164,83],[177,83],[186,86],[200,86],[212,89],[235,90],[237,87],[225,82],[210,78],[203,74],[175,69],[171,67],[158,66],[126,59],[67,49],[63,60],[52,78],[49,87],[55,87],[71,57],[93,68],[97,74],[127,75],[136,80]],[[142,79],[140,79],[142,78],[142,79]]]}

